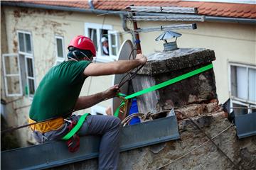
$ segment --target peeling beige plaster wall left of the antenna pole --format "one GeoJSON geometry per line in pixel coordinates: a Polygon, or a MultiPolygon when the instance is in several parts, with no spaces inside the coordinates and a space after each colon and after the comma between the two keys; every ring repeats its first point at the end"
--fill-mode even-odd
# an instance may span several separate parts
{"type": "MultiPolygon", "coordinates": [[[[98,23],[102,24],[103,17],[95,16],[88,13],[73,13],[73,12],[60,12],[60,11],[47,11],[29,8],[16,8],[5,6],[4,7],[5,22],[6,26],[7,53],[18,52],[18,38],[17,30],[28,31],[32,35],[33,43],[33,57],[34,57],[34,68],[36,73],[36,86],[46,74],[50,67],[55,64],[55,35],[61,35],[64,37],[64,45],[68,46],[71,38],[75,35],[85,35],[85,23],[98,23]]],[[[105,24],[112,25],[114,30],[122,31],[122,25],[119,21],[119,17],[106,16],[105,24]]],[[[122,35],[120,40],[130,39],[129,35],[122,35]]],[[[3,43],[1,38],[1,43],[3,43]]],[[[65,49],[65,54],[67,50],[65,49]]],[[[2,78],[1,74],[1,78],[2,78]]],[[[112,76],[105,77],[90,77],[85,81],[82,87],[81,96],[88,94],[95,94],[103,91],[112,86],[112,76]]],[[[4,88],[1,88],[4,90],[4,88]]],[[[54,95],[54,94],[53,94],[54,95]]],[[[1,97],[5,97],[4,91],[1,91],[1,97]]],[[[15,100],[14,97],[8,97],[6,100],[15,100]]],[[[31,104],[31,99],[27,97],[21,97],[21,100],[12,102],[13,108],[19,108],[22,106],[28,106],[31,104]]],[[[99,103],[100,106],[107,107],[112,104],[111,100],[99,103]]],[[[90,112],[90,108],[85,111],[78,111],[77,113],[90,112]]],[[[18,126],[27,123],[29,113],[29,107],[20,108],[10,115],[14,115],[17,121],[13,121],[12,125],[18,126]]],[[[27,145],[27,140],[31,140],[31,136],[27,135],[28,130],[24,128],[19,131],[21,135],[22,145],[27,145]]]]}

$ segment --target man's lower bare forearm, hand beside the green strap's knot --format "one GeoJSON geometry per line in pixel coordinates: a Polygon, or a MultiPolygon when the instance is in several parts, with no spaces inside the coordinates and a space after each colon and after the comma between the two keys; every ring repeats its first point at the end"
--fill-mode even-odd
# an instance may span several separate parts
{"type": "Polygon", "coordinates": [[[81,109],[90,108],[101,101],[105,101],[106,99],[113,98],[117,95],[118,86],[112,86],[110,89],[106,91],[102,91],[98,94],[92,94],[90,96],[80,96],[78,101],[75,103],[75,111],[79,111],[81,109]]]}

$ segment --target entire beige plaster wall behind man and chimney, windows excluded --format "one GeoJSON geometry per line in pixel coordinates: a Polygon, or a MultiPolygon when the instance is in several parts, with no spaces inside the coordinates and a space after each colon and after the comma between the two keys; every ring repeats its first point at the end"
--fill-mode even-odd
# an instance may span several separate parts
{"type": "MultiPolygon", "coordinates": [[[[85,34],[85,23],[98,23],[112,25],[114,30],[122,30],[122,21],[118,16],[95,16],[90,13],[73,13],[61,11],[48,11],[28,8],[4,7],[8,52],[18,52],[16,30],[31,32],[33,38],[33,54],[36,71],[36,84],[38,85],[47,70],[55,63],[55,37],[64,37],[65,47],[75,35],[85,34]],[[104,21],[105,17],[105,21],[104,21]],[[104,22],[103,22],[104,21],[104,22]]],[[[139,27],[169,25],[161,22],[139,22],[139,27]]],[[[129,24],[128,24],[129,26],[129,24]]],[[[228,61],[256,64],[256,27],[237,23],[198,23],[197,30],[176,30],[182,33],[178,38],[178,47],[205,47],[215,51],[216,61],[213,62],[217,92],[220,103],[228,99],[228,61]]],[[[154,39],[160,32],[141,33],[142,52],[149,55],[157,50],[163,50],[163,42],[154,39]]],[[[131,39],[124,33],[120,41],[131,39]]],[[[1,38],[1,43],[3,40],[1,38]]],[[[65,53],[67,51],[65,50],[65,53]]],[[[2,77],[2,74],[1,74],[2,77]]],[[[112,76],[88,78],[82,88],[81,95],[95,94],[112,85],[112,76]]],[[[1,88],[2,89],[2,88],[1,88]]],[[[1,97],[4,97],[2,94],[1,97]]],[[[54,94],[53,94],[54,95],[54,94]]],[[[13,100],[13,98],[9,98],[13,100]]],[[[24,97],[14,102],[14,107],[26,106],[31,100],[24,97]]],[[[99,103],[100,106],[110,106],[111,101],[99,103]]],[[[29,107],[16,111],[17,125],[26,123],[29,107]]],[[[78,113],[90,112],[80,111],[78,113]]],[[[27,132],[27,131],[26,131],[27,132]]],[[[26,132],[22,132],[26,134],[26,132]]],[[[26,135],[23,136],[26,139],[26,135]]],[[[26,145],[26,140],[23,140],[26,145]]]]}

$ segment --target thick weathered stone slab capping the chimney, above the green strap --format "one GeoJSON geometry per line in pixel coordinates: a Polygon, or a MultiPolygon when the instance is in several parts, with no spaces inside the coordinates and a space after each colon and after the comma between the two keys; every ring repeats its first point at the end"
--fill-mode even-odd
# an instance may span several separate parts
{"type": "Polygon", "coordinates": [[[153,76],[195,67],[215,60],[213,50],[204,48],[179,48],[168,52],[154,52],[147,56],[148,61],[138,74],[153,76]]]}

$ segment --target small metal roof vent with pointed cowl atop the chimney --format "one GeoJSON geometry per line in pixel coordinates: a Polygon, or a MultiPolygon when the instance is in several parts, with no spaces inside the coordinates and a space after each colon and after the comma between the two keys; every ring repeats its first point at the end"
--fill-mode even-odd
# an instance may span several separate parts
{"type": "Polygon", "coordinates": [[[164,33],[161,33],[158,38],[156,38],[156,41],[164,40],[164,51],[171,51],[178,49],[176,40],[178,37],[181,37],[180,33],[175,33],[173,31],[166,31],[164,33]],[[167,42],[167,39],[169,38],[176,38],[173,42],[167,42]]]}

